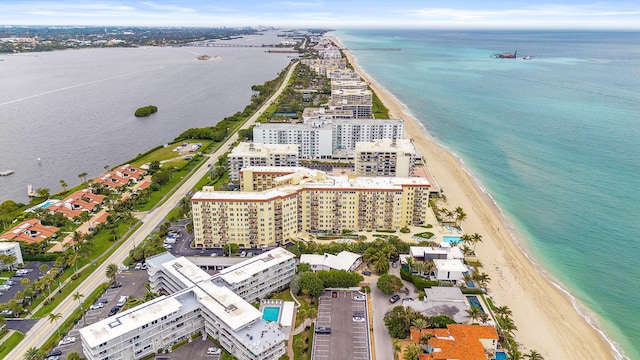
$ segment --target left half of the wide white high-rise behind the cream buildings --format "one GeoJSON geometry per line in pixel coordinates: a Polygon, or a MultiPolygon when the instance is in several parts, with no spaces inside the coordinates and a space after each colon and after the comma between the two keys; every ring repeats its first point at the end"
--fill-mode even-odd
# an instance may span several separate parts
{"type": "Polygon", "coordinates": [[[331,125],[257,123],[253,141],[299,145],[301,159],[331,158],[331,125]]]}

